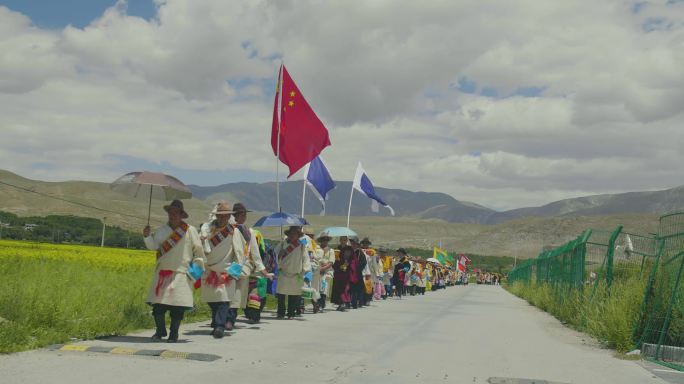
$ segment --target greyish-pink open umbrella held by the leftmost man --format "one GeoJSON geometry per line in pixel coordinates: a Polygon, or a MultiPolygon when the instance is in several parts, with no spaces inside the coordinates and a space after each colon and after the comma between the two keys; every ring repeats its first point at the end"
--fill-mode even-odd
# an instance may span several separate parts
{"type": "MultiPolygon", "coordinates": [[[[159,200],[189,199],[190,189],[173,176],[158,172],[131,172],[114,180],[109,186],[113,191],[137,197],[143,186],[150,186],[150,202],[147,207],[147,225],[150,224],[152,197],[159,200]]],[[[145,188],[146,189],[146,188],[145,188]]]]}

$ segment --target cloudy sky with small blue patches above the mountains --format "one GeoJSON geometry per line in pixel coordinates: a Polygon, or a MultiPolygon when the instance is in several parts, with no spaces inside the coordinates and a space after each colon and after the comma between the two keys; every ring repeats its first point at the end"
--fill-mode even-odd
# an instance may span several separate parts
{"type": "Polygon", "coordinates": [[[0,168],[273,180],[281,60],[336,179],[495,209],[684,184],[681,0],[0,0],[0,168]]]}

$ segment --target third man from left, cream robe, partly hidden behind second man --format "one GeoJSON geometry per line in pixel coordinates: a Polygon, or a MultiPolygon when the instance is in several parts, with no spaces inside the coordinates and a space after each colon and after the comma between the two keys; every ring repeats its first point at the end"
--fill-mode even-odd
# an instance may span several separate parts
{"type": "MultiPolygon", "coordinates": [[[[244,252],[238,255],[238,262],[242,265],[242,274],[235,286],[235,300],[230,302],[230,320],[233,324],[237,320],[238,309],[241,308],[244,311],[247,308],[250,276],[253,273],[258,273],[268,279],[273,279],[273,274],[268,273],[261,260],[256,233],[245,224],[248,212],[251,211],[242,203],[235,203],[233,205],[233,217],[235,218],[236,228],[244,240],[244,252]]],[[[251,318],[250,320],[256,321],[256,318],[251,318]]],[[[229,324],[229,328],[233,328],[232,324],[229,324]]]]}

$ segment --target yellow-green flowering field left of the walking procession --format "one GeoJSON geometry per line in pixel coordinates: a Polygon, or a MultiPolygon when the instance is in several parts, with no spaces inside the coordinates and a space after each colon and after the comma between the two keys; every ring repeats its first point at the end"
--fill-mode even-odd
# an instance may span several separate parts
{"type": "Polygon", "coordinates": [[[0,241],[0,353],[152,328],[153,269],[147,251],[0,241]]]}

